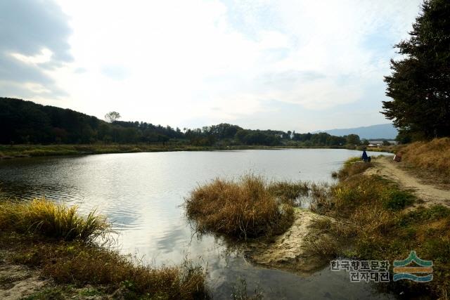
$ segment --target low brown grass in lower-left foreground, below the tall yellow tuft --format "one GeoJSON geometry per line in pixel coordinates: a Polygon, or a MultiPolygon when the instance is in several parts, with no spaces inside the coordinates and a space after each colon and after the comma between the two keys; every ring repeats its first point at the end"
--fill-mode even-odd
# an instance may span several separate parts
{"type": "Polygon", "coordinates": [[[144,266],[130,256],[80,241],[52,242],[30,235],[0,235],[13,263],[41,270],[57,284],[102,285],[120,299],[208,299],[205,273],[186,260],[181,266],[144,266]]]}

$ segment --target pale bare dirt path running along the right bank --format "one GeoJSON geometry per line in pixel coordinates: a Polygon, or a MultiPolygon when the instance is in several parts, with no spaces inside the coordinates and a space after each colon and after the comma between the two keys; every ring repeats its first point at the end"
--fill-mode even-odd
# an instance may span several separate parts
{"type": "Polygon", "coordinates": [[[398,167],[392,156],[379,157],[373,160],[374,168],[367,169],[365,174],[376,174],[389,178],[406,190],[413,190],[413,193],[423,200],[425,206],[433,204],[442,204],[450,207],[450,190],[436,188],[434,185],[420,183],[418,178],[412,176],[398,167]]]}

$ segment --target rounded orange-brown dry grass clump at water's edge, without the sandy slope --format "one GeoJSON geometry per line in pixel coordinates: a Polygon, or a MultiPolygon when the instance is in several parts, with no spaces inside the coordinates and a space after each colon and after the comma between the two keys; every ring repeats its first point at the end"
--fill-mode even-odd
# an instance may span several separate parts
{"type": "Polygon", "coordinates": [[[293,207],[279,205],[258,176],[239,181],[215,179],[195,188],[186,199],[186,214],[200,232],[247,239],[283,233],[293,222],[293,207]]]}

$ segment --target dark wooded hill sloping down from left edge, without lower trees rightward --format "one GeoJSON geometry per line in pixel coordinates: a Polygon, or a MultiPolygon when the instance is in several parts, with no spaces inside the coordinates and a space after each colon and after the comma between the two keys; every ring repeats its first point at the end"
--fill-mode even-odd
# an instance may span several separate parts
{"type": "Polygon", "coordinates": [[[0,143],[137,143],[184,138],[180,130],[144,122],[107,123],[74,110],[0,98],[0,143]]]}

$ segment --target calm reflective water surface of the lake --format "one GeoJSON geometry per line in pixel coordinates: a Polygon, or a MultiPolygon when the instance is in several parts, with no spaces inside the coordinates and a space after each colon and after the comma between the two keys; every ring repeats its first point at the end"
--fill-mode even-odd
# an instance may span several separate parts
{"type": "MultiPolygon", "coordinates": [[[[368,152],[368,155],[380,155],[368,152]]],[[[2,193],[45,196],[97,208],[114,221],[120,251],[160,265],[200,261],[210,272],[214,298],[229,299],[244,278],[259,285],[264,299],[391,299],[366,283],[350,283],[349,274],[328,268],[307,278],[252,266],[211,236],[196,237],[180,205],[196,185],[213,178],[260,174],[269,179],[332,182],[348,157],[361,151],[336,149],[153,152],[50,157],[0,161],[2,193]]]]}

